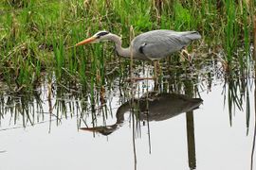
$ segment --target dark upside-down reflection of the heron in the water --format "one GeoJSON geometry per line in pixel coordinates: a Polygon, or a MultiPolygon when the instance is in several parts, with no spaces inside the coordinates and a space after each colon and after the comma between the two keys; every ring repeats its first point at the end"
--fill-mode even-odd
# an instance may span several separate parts
{"type": "Polygon", "coordinates": [[[115,124],[101,127],[81,127],[81,129],[109,135],[123,125],[124,114],[131,112],[132,108],[137,109],[136,117],[140,121],[163,121],[182,112],[195,110],[202,103],[201,98],[191,98],[184,94],[148,93],[147,96],[134,99],[133,103],[131,101],[123,103],[117,110],[115,124]]]}

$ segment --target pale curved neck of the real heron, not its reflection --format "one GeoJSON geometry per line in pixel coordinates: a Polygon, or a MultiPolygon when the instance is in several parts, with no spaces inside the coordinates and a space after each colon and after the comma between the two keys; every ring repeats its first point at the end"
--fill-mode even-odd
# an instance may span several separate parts
{"type": "Polygon", "coordinates": [[[130,58],[130,56],[131,56],[130,47],[128,47],[128,48],[121,47],[121,39],[119,36],[112,34],[112,36],[109,39],[111,41],[115,42],[116,50],[119,53],[119,56],[122,56],[125,58],[130,58]]]}

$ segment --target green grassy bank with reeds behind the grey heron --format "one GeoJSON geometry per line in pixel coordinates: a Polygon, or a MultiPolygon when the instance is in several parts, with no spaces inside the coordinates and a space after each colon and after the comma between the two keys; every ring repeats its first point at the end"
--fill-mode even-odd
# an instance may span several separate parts
{"type": "MultiPolygon", "coordinates": [[[[111,44],[79,48],[76,42],[98,30],[122,35],[130,42],[130,26],[135,34],[165,28],[197,30],[201,42],[190,46],[196,55],[224,49],[227,70],[247,70],[252,42],[254,1],[232,0],[3,0],[0,2],[0,78],[19,88],[34,88],[42,74],[57,82],[105,83],[105,75],[115,67],[117,56],[111,44]],[[239,49],[243,49],[242,52],[239,49]]],[[[119,60],[121,74],[127,60],[119,60]]]]}

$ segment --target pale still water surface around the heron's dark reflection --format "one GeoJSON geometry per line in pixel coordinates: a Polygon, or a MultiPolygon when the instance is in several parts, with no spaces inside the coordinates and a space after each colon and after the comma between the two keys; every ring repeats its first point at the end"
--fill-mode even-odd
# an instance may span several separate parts
{"type": "MultiPolygon", "coordinates": [[[[91,107],[89,96],[84,95],[82,101],[71,93],[62,98],[54,92],[48,95],[46,85],[40,90],[41,102],[32,96],[27,101],[19,95],[11,103],[11,95],[4,95],[0,169],[253,169],[253,79],[247,79],[248,98],[241,97],[239,107],[232,97],[229,100],[230,83],[218,78],[209,87],[203,80],[195,85],[198,93],[193,96],[200,94],[203,100],[196,110],[161,121],[139,121],[135,114],[127,113],[109,135],[80,129],[117,122],[116,112],[129,99],[125,93],[131,93],[129,85],[120,90],[117,84],[118,80],[111,91],[106,90],[104,102],[96,100],[95,108],[91,107]]],[[[139,98],[154,87],[153,80],[139,81],[134,86],[134,97],[139,98]]],[[[168,109],[171,111],[172,107],[168,109]]]]}

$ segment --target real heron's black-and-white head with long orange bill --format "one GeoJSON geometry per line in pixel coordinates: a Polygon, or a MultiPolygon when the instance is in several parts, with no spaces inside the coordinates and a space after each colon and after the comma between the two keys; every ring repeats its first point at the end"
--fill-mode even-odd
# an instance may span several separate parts
{"type": "Polygon", "coordinates": [[[99,31],[96,34],[94,34],[92,37],[83,40],[82,42],[78,42],[76,46],[86,44],[86,43],[93,43],[93,42],[102,42],[104,40],[108,40],[111,36],[111,33],[108,31],[99,31]]]}

